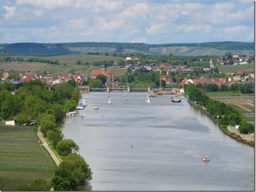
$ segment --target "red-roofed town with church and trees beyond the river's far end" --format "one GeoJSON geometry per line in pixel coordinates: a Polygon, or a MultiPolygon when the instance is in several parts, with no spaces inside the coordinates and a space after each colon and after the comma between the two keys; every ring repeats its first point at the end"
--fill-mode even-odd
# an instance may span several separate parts
{"type": "MultiPolygon", "coordinates": [[[[142,60],[142,58],[140,58],[140,56],[126,56],[123,58],[122,62],[118,63],[115,61],[112,63],[103,63],[101,66],[98,65],[98,68],[96,69],[94,67],[94,70],[89,73],[85,73],[82,70],[74,70],[73,72],[65,74],[63,72],[51,73],[45,71],[25,71],[26,67],[24,67],[22,70],[17,70],[17,65],[23,65],[23,63],[29,65],[30,61],[38,61],[39,63],[45,61],[35,58],[30,58],[27,61],[24,61],[24,59],[21,57],[8,56],[2,57],[0,59],[1,63],[8,63],[8,65],[5,65],[6,67],[2,67],[3,70],[1,70],[1,82],[3,83],[5,81],[10,81],[12,83],[19,84],[25,81],[39,79],[46,85],[54,86],[65,81],[74,80],[78,86],[89,85],[89,88],[117,88],[120,86],[124,87],[128,83],[130,84],[129,86],[132,87],[135,85],[133,81],[146,81],[140,80],[136,77],[131,78],[130,80],[124,80],[124,76],[127,74],[113,74],[113,72],[111,72],[111,67],[115,66],[124,69],[126,73],[133,74],[133,76],[138,76],[138,74],[145,74],[147,72],[154,72],[158,74],[159,77],[155,77],[154,79],[147,79],[147,81],[156,81],[156,84],[153,84],[155,87],[178,88],[180,86],[182,87],[184,84],[189,83],[194,85],[215,84],[217,87],[231,87],[231,85],[234,85],[235,83],[253,83],[253,69],[250,71],[241,69],[237,70],[236,72],[224,73],[219,72],[218,67],[222,65],[227,65],[230,67],[235,65],[249,65],[250,63],[253,63],[253,57],[254,56],[232,54],[231,52],[228,52],[225,54],[225,56],[215,56],[211,58],[206,58],[205,56],[202,58],[197,57],[192,61],[187,61],[189,58],[178,59],[172,57],[169,59],[169,61],[166,62],[146,63],[142,60]],[[10,67],[12,65],[14,67],[10,67]],[[97,76],[105,76],[105,79],[102,81],[102,85],[89,83],[96,80],[97,76]]],[[[56,60],[47,62],[54,63],[54,65],[58,63],[59,65],[59,62],[56,60]]],[[[77,63],[81,65],[81,61],[77,61],[76,65],[78,65],[77,63]]],[[[148,85],[146,86],[143,84],[141,86],[141,88],[147,88],[148,85]]],[[[136,85],[136,87],[138,87],[138,85],[136,85]]]]}

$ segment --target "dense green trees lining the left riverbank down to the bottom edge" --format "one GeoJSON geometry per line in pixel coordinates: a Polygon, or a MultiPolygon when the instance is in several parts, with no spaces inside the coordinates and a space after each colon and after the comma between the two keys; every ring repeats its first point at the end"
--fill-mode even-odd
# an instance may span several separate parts
{"type": "Polygon", "coordinates": [[[89,165],[76,153],[78,145],[74,140],[65,139],[58,126],[67,109],[75,109],[80,97],[74,80],[54,87],[47,87],[39,80],[19,87],[12,83],[0,84],[0,119],[15,120],[20,125],[35,123],[62,157],[63,162],[52,178],[55,191],[74,191],[76,186],[92,180],[89,165]]]}

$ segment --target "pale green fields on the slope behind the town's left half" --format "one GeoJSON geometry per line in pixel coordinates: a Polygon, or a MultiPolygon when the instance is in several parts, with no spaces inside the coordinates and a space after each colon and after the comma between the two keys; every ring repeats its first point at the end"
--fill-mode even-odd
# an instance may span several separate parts
{"type": "MultiPolygon", "coordinates": [[[[90,74],[92,70],[100,69],[101,66],[92,65],[76,65],[77,61],[82,63],[93,63],[98,61],[121,61],[123,58],[104,55],[88,55],[88,54],[65,54],[55,56],[21,56],[25,60],[31,57],[41,58],[50,61],[59,61],[59,65],[51,65],[49,63],[36,63],[36,62],[3,62],[0,63],[0,68],[4,71],[17,70],[19,72],[50,72],[54,74],[68,74],[71,70],[82,72],[83,74],[90,74]]],[[[119,65],[109,67],[111,73],[115,76],[125,73],[126,70],[122,69],[119,65]],[[114,72],[112,72],[114,70],[114,72]],[[117,72],[116,72],[117,70],[117,72]]]]}

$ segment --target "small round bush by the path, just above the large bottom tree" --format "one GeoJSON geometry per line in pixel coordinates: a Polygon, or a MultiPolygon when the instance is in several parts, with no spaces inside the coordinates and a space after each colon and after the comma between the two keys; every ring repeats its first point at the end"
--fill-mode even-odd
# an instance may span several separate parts
{"type": "Polygon", "coordinates": [[[78,151],[79,147],[72,139],[64,139],[58,141],[56,150],[61,156],[68,156],[73,151],[78,151]]]}

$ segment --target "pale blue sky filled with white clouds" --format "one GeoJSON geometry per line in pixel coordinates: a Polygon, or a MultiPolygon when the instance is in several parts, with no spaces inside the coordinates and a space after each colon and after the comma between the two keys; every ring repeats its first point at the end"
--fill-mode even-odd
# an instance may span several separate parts
{"type": "Polygon", "coordinates": [[[254,42],[253,0],[0,0],[0,43],[254,42]]]}

